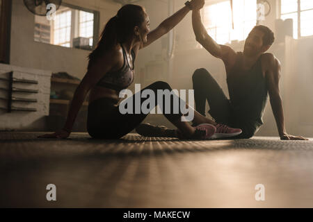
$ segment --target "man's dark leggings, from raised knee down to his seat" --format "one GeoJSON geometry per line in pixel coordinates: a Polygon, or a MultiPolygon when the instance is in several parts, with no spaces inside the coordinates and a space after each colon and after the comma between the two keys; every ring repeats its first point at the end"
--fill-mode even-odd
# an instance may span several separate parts
{"type": "Polygon", "coordinates": [[[195,90],[195,110],[205,116],[205,103],[209,103],[209,114],[218,123],[226,124],[232,128],[240,128],[243,132],[236,138],[248,139],[252,137],[257,128],[255,123],[248,119],[239,119],[232,112],[230,100],[225,96],[216,80],[207,69],[197,69],[193,74],[193,89],[195,90]]]}

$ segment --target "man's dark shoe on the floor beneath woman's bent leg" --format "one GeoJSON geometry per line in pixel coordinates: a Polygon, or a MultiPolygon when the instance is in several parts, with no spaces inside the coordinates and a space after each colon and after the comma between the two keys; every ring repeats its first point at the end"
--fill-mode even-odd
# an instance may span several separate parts
{"type": "Polygon", "coordinates": [[[166,126],[153,126],[150,123],[141,123],[136,132],[144,137],[177,137],[176,130],[171,130],[166,126]]]}

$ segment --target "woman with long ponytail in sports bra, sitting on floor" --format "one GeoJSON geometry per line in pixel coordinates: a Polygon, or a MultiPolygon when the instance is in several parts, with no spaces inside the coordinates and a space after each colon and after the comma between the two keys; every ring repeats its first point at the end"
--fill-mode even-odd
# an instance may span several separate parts
{"type": "MultiPolygon", "coordinates": [[[[122,6],[118,14],[106,24],[96,49],[89,55],[88,71],[75,91],[65,127],[56,133],[40,137],[67,138],[71,133],[77,112],[90,89],[88,133],[91,137],[118,139],[136,128],[147,114],[121,114],[118,103],[119,92],[131,85],[134,80],[134,60],[138,51],[168,33],[190,10],[200,9],[203,6],[204,0],[192,0],[151,32],[149,17],[144,8],[131,4],[122,6]]],[[[151,89],[155,94],[157,89],[172,90],[167,83],[161,81],[145,89],[151,89]]],[[[141,99],[141,103],[143,101],[145,99],[141,99]]],[[[180,102],[184,103],[184,101],[180,102]]],[[[170,104],[172,106],[172,103],[170,104]]],[[[217,124],[198,112],[194,114],[193,123],[199,126],[195,127],[181,121],[181,113],[164,115],[177,126],[177,137],[181,138],[209,139],[219,133],[224,136],[241,133],[240,129],[217,124]]]]}

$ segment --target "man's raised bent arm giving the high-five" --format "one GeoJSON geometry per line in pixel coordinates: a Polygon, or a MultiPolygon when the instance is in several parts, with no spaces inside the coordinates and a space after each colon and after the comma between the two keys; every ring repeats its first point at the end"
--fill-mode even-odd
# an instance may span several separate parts
{"type": "Polygon", "coordinates": [[[199,42],[204,49],[207,49],[209,53],[216,57],[222,59],[226,63],[234,61],[236,56],[235,51],[230,48],[230,46],[225,46],[222,44],[217,44],[211,36],[207,33],[207,30],[202,24],[200,10],[193,10],[193,32],[195,33],[195,40],[199,42]]]}

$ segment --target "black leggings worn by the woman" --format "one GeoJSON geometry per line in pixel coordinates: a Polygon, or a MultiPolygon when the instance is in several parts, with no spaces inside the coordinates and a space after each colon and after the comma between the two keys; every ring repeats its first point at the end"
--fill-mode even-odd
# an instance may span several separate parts
{"type": "MultiPolygon", "coordinates": [[[[172,91],[170,85],[168,83],[158,81],[155,83],[152,83],[151,85],[145,87],[144,89],[141,89],[142,93],[145,89],[151,89],[155,96],[155,104],[154,107],[158,104],[157,100],[157,90],[158,89],[168,89],[170,92],[172,91]]],[[[137,94],[138,94],[137,93],[137,94]]],[[[147,117],[147,114],[140,113],[135,114],[135,96],[131,96],[127,99],[133,100],[133,112],[134,114],[121,114],[119,110],[119,105],[116,103],[113,99],[108,98],[102,98],[97,99],[96,101],[93,101],[88,106],[88,123],[87,123],[87,129],[88,133],[91,137],[95,139],[118,139],[127,133],[130,133],[131,130],[134,130],[144,119],[147,117]]],[[[176,95],[175,95],[176,96],[176,95]]],[[[175,122],[180,120],[182,117],[182,113],[179,111],[178,114],[174,114],[173,110],[173,99],[174,96],[170,96],[170,114],[166,114],[164,108],[165,108],[165,99],[163,97],[163,114],[164,116],[171,122],[175,122]]],[[[177,99],[177,98],[176,98],[177,99]]],[[[142,104],[147,98],[141,99],[142,104]]],[[[181,103],[185,103],[181,99],[178,99],[179,105],[181,103]]],[[[149,107],[149,110],[152,110],[154,107],[149,107]]],[[[157,113],[157,109],[156,109],[157,113]]]]}

